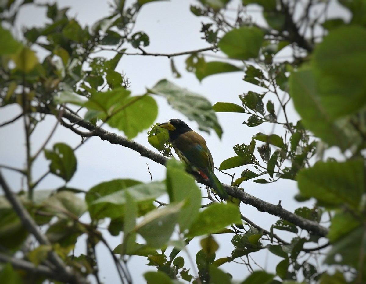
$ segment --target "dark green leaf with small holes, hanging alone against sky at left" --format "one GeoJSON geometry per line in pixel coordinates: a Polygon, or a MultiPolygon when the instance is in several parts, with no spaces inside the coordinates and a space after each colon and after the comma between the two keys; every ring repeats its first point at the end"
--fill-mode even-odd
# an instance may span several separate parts
{"type": "Polygon", "coordinates": [[[47,160],[51,160],[49,169],[51,173],[65,181],[71,180],[76,171],[76,157],[74,150],[64,143],[56,143],[52,150],[44,150],[47,160]]]}

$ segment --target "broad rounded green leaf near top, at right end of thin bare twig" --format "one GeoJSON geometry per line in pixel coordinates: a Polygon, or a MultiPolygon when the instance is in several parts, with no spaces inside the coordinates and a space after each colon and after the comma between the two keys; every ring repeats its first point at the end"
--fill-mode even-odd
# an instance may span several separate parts
{"type": "Polygon", "coordinates": [[[230,58],[257,58],[263,37],[264,33],[257,27],[241,27],[225,34],[219,42],[219,47],[230,58]]]}

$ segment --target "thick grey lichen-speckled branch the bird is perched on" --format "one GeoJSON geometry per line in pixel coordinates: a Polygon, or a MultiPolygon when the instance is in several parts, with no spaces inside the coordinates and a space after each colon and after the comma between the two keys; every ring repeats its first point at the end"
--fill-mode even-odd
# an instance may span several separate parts
{"type": "MultiPolygon", "coordinates": [[[[39,111],[49,113],[48,110],[45,108],[42,108],[39,111]]],[[[167,162],[166,157],[146,148],[145,146],[135,141],[128,140],[127,138],[124,138],[120,135],[110,133],[107,130],[104,130],[103,128],[94,126],[93,124],[90,124],[89,122],[82,120],[82,118],[78,115],[71,114],[70,112],[65,111],[63,117],[70,120],[71,123],[76,123],[89,131],[94,131],[95,136],[100,137],[102,140],[107,140],[111,144],[119,144],[128,147],[140,153],[142,157],[147,157],[150,160],[153,160],[161,165],[165,165],[165,163],[167,162]]],[[[198,173],[196,172],[191,173],[194,175],[194,177],[199,183],[210,186],[209,181],[203,179],[198,173]]],[[[223,187],[229,193],[229,195],[238,198],[245,204],[249,204],[257,208],[258,211],[260,212],[267,212],[269,214],[283,218],[291,223],[294,223],[296,226],[299,226],[301,229],[307,230],[311,234],[316,234],[321,237],[325,237],[326,234],[328,233],[328,229],[321,226],[317,222],[302,218],[299,215],[296,215],[290,211],[283,209],[280,205],[274,205],[272,203],[265,202],[264,200],[261,200],[253,195],[250,195],[249,193],[244,192],[242,189],[238,187],[234,187],[228,184],[223,184],[223,187]]]]}

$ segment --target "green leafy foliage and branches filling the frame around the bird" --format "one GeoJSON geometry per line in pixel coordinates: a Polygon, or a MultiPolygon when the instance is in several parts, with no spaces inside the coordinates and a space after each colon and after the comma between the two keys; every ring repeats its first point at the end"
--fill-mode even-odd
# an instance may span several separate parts
{"type": "Polygon", "coordinates": [[[366,283],[366,1],[200,0],[190,12],[201,19],[207,47],[152,53],[153,39],[135,25],[143,7],[160,3],[114,0],[110,14],[91,26],[57,2],[0,4],[0,107],[20,110],[0,122],[2,147],[10,147],[7,135],[21,121],[26,153],[23,168],[0,164],[0,282],[103,283],[101,245],[115,263],[115,283],[132,283],[146,270],[132,273],[131,256],[150,266],[143,272],[147,283],[366,283]],[[18,13],[26,5],[45,8],[48,20],[19,32],[18,13]],[[183,56],[199,82],[235,72],[251,91],[227,93],[212,104],[189,85],[161,78],[136,95],[117,67],[129,56],[168,58],[175,78],[182,72],[174,60],[183,56]],[[219,138],[232,127],[251,133],[249,143],[238,135],[225,145],[235,155],[216,164],[230,176],[223,184],[229,199],[220,200],[208,180],[171,158],[167,131],[157,127],[158,98],[203,132],[219,138]],[[289,114],[292,105],[299,120],[289,114]],[[220,124],[221,113],[240,119],[220,124]],[[34,149],[47,119],[55,127],[34,149]],[[80,144],[50,144],[57,126],[80,144]],[[134,141],[141,133],[145,144],[134,141]],[[128,148],[162,171],[165,166],[165,179],[69,186],[78,174],[76,151],[93,137],[128,148]],[[341,154],[330,157],[329,149],[341,154]],[[47,169],[38,177],[34,163],[42,155],[47,169]],[[10,186],[11,172],[19,174],[21,188],[10,186]],[[40,188],[49,175],[63,186],[40,188]],[[314,205],[287,210],[246,192],[252,182],[270,187],[283,180],[297,185],[297,202],[314,205]],[[244,206],[277,221],[261,227],[244,206]],[[112,236],[122,238],[119,245],[111,246],[112,236]],[[82,238],[86,250],[76,255],[82,238]],[[197,239],[199,249],[188,252],[197,239]],[[223,247],[225,256],[217,257],[223,247]],[[274,270],[253,259],[264,252],[276,256],[274,270]],[[228,272],[234,263],[247,271],[242,279],[228,272]]]}

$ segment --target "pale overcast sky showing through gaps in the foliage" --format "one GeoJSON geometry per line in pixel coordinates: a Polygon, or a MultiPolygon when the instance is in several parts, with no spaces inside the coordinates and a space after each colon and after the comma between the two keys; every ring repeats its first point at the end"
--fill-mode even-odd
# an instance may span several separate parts
{"type": "MultiPolygon", "coordinates": [[[[44,3],[46,1],[35,1],[36,3],[44,3]]],[[[84,26],[88,24],[91,26],[96,20],[107,16],[111,9],[107,1],[98,0],[60,0],[57,1],[59,7],[71,7],[68,11],[70,17],[75,17],[79,23],[84,26]],[[87,4],[86,4],[87,3],[87,4]]],[[[126,1],[126,6],[131,1],[126,1]]],[[[156,53],[176,53],[187,50],[201,49],[209,47],[208,43],[201,39],[202,33],[201,22],[207,23],[205,18],[199,18],[194,16],[190,12],[190,3],[197,4],[196,1],[157,1],[143,5],[141,12],[139,13],[137,23],[134,31],[144,31],[150,37],[150,46],[146,47],[147,52],[156,53]]],[[[231,9],[237,7],[237,3],[230,5],[231,9]]],[[[251,13],[255,20],[260,21],[259,7],[254,7],[251,13]]],[[[338,10],[335,8],[335,11],[338,10]]],[[[44,8],[35,8],[34,5],[25,5],[19,14],[19,24],[27,27],[36,26],[40,27],[44,21],[47,21],[45,17],[46,10],[44,8]]],[[[42,59],[46,54],[40,49],[37,49],[38,57],[42,59]]],[[[133,48],[129,47],[128,51],[133,52],[133,48]]],[[[207,53],[209,54],[209,53],[207,53]]],[[[212,53],[211,53],[212,54],[212,53]]],[[[102,54],[98,54],[102,55],[102,54]]],[[[105,54],[106,56],[114,56],[114,54],[105,54]]],[[[216,54],[216,57],[224,57],[223,54],[216,54]]],[[[141,95],[146,92],[146,88],[153,87],[156,82],[163,78],[174,82],[174,84],[180,87],[187,88],[190,91],[199,93],[205,96],[212,104],[223,101],[240,104],[238,98],[242,93],[248,91],[263,91],[261,88],[255,85],[249,84],[242,80],[244,73],[226,73],[221,75],[210,76],[203,79],[200,83],[193,73],[188,73],[185,70],[184,61],[188,55],[183,55],[174,58],[175,65],[179,72],[182,74],[182,78],[174,78],[171,69],[170,61],[166,57],[145,57],[145,56],[126,56],[122,57],[119,62],[116,71],[124,73],[130,79],[131,92],[133,95],[141,95]]],[[[207,61],[217,60],[217,58],[207,57],[207,61]]],[[[241,66],[240,62],[236,62],[237,66],[241,66]]],[[[163,97],[154,96],[158,102],[159,112],[156,122],[165,122],[171,118],[179,118],[184,120],[191,128],[197,130],[197,124],[189,121],[182,114],[172,110],[163,97]]],[[[278,105],[278,104],[277,104],[278,105]]],[[[276,108],[277,110],[278,108],[276,108]]],[[[0,123],[13,118],[20,113],[20,108],[16,105],[11,105],[0,110],[0,123]]],[[[293,108],[288,108],[288,114],[293,122],[296,122],[299,118],[293,108]]],[[[219,122],[223,127],[224,133],[220,140],[217,135],[212,132],[211,135],[206,133],[200,133],[207,141],[210,151],[213,155],[215,165],[218,167],[225,159],[235,156],[232,147],[235,144],[250,143],[250,138],[258,133],[263,132],[265,134],[271,134],[273,131],[272,125],[262,124],[258,127],[249,128],[242,124],[247,116],[243,114],[217,114],[219,122]]],[[[283,118],[283,114],[279,114],[279,118],[283,118]]],[[[56,120],[46,119],[40,123],[36,132],[33,134],[32,140],[32,152],[36,153],[38,148],[44,143],[49,132],[55,125],[56,120]]],[[[112,129],[105,126],[108,131],[114,133],[120,133],[116,129],[112,129]]],[[[274,129],[276,133],[283,133],[279,126],[274,129]]],[[[22,168],[25,166],[25,139],[22,127],[22,121],[19,120],[6,127],[0,128],[0,135],[3,139],[0,140],[0,164],[6,164],[22,168]],[[5,138],[5,139],[4,139],[5,138]]],[[[147,142],[146,131],[139,134],[135,141],[155,150],[147,142]]],[[[68,145],[75,147],[81,139],[71,133],[70,130],[58,126],[55,135],[53,135],[51,141],[48,143],[47,148],[51,149],[52,145],[57,142],[65,142],[68,145]]],[[[165,178],[165,168],[155,162],[142,158],[138,153],[124,148],[120,145],[111,145],[106,141],[101,141],[98,137],[89,139],[85,145],[80,147],[76,151],[76,157],[78,160],[78,170],[75,173],[72,180],[68,183],[70,187],[81,188],[88,190],[94,185],[101,183],[102,181],[109,181],[112,179],[132,178],[143,182],[150,181],[150,174],[147,171],[147,165],[149,165],[150,172],[154,180],[163,180],[165,178]]],[[[37,158],[36,164],[33,169],[34,180],[42,176],[48,170],[49,162],[45,160],[44,156],[37,158]]],[[[228,170],[230,174],[235,173],[236,177],[240,177],[240,174],[246,167],[240,167],[228,170]]],[[[18,192],[21,188],[20,176],[14,174],[8,170],[4,170],[8,182],[12,186],[14,191],[18,192]]],[[[228,175],[217,173],[217,176],[221,182],[230,184],[231,178],[228,175]]],[[[42,181],[39,185],[39,189],[53,189],[63,185],[63,181],[58,177],[51,174],[42,181]]],[[[293,196],[297,193],[296,183],[289,180],[279,181],[273,184],[257,184],[252,181],[248,181],[241,185],[244,190],[250,194],[253,194],[260,199],[277,204],[281,200],[281,205],[290,211],[300,206],[311,207],[313,202],[298,204],[293,199],[293,196]]],[[[203,193],[205,194],[205,193],[203,193]]],[[[164,198],[162,199],[164,200],[164,198]]],[[[249,205],[241,206],[242,213],[254,223],[269,230],[270,225],[273,224],[279,218],[258,212],[255,208],[249,205]]],[[[84,218],[87,218],[84,217],[84,218]]],[[[85,219],[86,220],[86,219],[85,219]]],[[[108,235],[108,234],[105,234],[108,235]]],[[[290,237],[290,235],[285,234],[290,237]]],[[[215,237],[220,244],[220,250],[217,252],[217,258],[228,256],[231,252],[231,235],[215,237]],[[227,245],[225,245],[227,244],[227,245]]],[[[294,237],[291,235],[291,237],[294,237]]],[[[111,247],[114,248],[121,241],[120,237],[108,238],[111,242],[111,247]]],[[[193,243],[188,246],[188,251],[191,252],[191,257],[195,259],[195,252],[198,251],[198,243],[200,238],[196,238],[193,243]]],[[[288,239],[290,240],[290,239],[288,239]]],[[[78,250],[76,253],[85,253],[85,247],[82,240],[78,242],[78,250]]],[[[184,256],[184,255],[183,255],[184,256]]],[[[111,262],[111,257],[106,252],[104,247],[98,247],[97,252],[98,259],[102,259],[100,264],[100,275],[105,283],[115,283],[116,279],[115,267],[111,262]]],[[[261,253],[259,256],[255,255],[255,260],[262,265],[263,268],[269,271],[275,272],[275,267],[279,262],[279,258],[273,256],[270,253],[261,253]]],[[[146,264],[146,258],[134,257],[132,261],[128,263],[134,283],[142,283],[142,270],[155,270],[146,264]]],[[[225,264],[223,269],[231,273],[234,279],[243,280],[248,272],[244,266],[238,264],[225,264]]],[[[258,268],[259,269],[259,268],[258,268]]],[[[191,271],[191,273],[194,273],[191,271]]]]}

